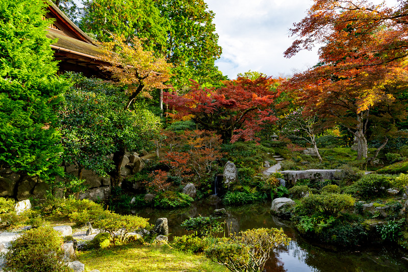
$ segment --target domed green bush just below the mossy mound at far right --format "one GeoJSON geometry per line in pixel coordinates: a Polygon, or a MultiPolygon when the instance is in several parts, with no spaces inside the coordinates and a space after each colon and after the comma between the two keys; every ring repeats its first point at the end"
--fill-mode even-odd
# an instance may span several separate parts
{"type": "Polygon", "coordinates": [[[394,177],[387,175],[369,174],[345,188],[345,192],[361,196],[363,199],[373,199],[387,194],[394,177]]]}

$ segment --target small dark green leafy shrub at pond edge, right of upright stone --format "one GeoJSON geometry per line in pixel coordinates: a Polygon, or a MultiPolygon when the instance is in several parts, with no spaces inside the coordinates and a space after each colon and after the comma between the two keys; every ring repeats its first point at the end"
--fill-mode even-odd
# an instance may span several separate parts
{"type": "Polygon", "coordinates": [[[203,217],[201,215],[186,219],[181,227],[186,231],[193,231],[193,235],[200,238],[212,236],[224,230],[222,223],[217,221],[217,217],[203,217]]]}

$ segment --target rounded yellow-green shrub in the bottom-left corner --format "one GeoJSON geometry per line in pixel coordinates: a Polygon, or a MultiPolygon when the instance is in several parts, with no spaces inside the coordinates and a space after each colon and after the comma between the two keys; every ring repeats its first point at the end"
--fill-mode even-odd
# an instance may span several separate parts
{"type": "Polygon", "coordinates": [[[72,271],[62,262],[61,245],[59,232],[50,227],[28,230],[10,242],[3,269],[6,272],[72,271]]]}

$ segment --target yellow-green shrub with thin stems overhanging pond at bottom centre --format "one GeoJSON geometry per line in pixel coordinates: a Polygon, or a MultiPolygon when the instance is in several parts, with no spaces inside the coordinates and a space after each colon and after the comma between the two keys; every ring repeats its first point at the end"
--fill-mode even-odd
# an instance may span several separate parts
{"type": "Polygon", "coordinates": [[[219,241],[206,256],[231,271],[263,271],[270,252],[289,242],[282,229],[251,229],[219,241]]]}

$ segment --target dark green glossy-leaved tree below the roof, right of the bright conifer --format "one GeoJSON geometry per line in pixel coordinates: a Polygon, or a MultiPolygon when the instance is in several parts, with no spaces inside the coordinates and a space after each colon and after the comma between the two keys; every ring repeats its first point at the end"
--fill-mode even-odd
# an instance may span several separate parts
{"type": "Polygon", "coordinates": [[[121,87],[99,79],[69,74],[73,86],[60,107],[63,159],[101,176],[110,175],[112,185],[120,177],[120,163],[108,159],[123,150],[146,148],[160,129],[160,118],[136,103],[130,109],[121,87]],[[118,173],[119,171],[119,173],[118,173]]]}

